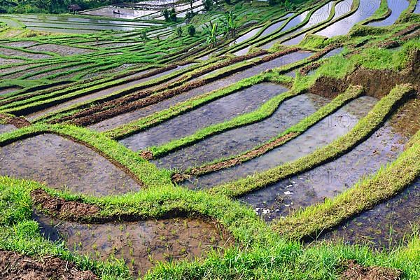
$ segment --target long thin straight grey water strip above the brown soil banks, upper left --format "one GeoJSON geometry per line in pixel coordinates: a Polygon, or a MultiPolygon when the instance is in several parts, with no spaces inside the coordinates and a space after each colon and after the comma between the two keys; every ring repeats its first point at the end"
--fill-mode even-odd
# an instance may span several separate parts
{"type": "MultiPolygon", "coordinates": [[[[188,66],[191,66],[191,64],[186,64],[186,65],[183,65],[183,66],[178,66],[175,69],[172,69],[172,70],[169,70],[169,71],[165,71],[165,72],[162,72],[162,73],[158,73],[158,74],[156,74],[154,76],[150,76],[150,77],[147,77],[147,78],[141,78],[139,80],[132,80],[131,82],[123,83],[123,84],[120,84],[120,85],[116,85],[115,87],[109,87],[109,88],[106,88],[104,90],[99,90],[97,92],[94,92],[93,94],[88,94],[88,95],[85,95],[83,97],[78,97],[76,99],[71,99],[68,102],[60,103],[60,104],[58,104],[56,106],[52,106],[52,107],[50,107],[48,109],[45,109],[43,111],[36,111],[34,113],[31,113],[31,114],[27,115],[27,118],[28,118],[28,120],[34,120],[36,118],[41,118],[42,116],[45,116],[48,113],[52,113],[52,112],[58,111],[60,109],[65,109],[65,108],[67,108],[69,106],[72,106],[72,105],[75,105],[75,104],[88,102],[90,100],[97,99],[99,97],[104,97],[105,95],[111,94],[113,92],[117,92],[119,90],[124,90],[125,88],[132,87],[134,85],[139,85],[141,83],[146,83],[148,80],[152,80],[154,78],[159,78],[159,77],[168,75],[169,73],[172,73],[174,71],[178,71],[179,69],[183,69],[183,68],[188,67],[188,66]]],[[[141,75],[144,75],[145,73],[147,73],[148,71],[153,71],[153,70],[141,71],[139,73],[135,73],[132,76],[127,76],[124,79],[134,78],[136,76],[141,76],[141,75]]],[[[173,81],[175,79],[176,78],[171,79],[167,83],[170,83],[171,81],[173,81]]],[[[158,87],[158,86],[160,86],[160,85],[155,85],[154,87],[158,87]]],[[[151,87],[151,88],[153,88],[153,87],[151,87]]]]}

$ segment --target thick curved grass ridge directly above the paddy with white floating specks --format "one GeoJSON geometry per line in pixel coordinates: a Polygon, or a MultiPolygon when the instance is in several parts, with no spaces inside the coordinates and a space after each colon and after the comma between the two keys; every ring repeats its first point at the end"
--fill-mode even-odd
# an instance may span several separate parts
{"type": "Polygon", "coordinates": [[[386,97],[383,97],[364,118],[360,119],[353,129],[343,137],[333,141],[314,153],[304,156],[293,162],[288,162],[279,167],[274,167],[266,172],[260,172],[239,179],[231,183],[216,186],[209,190],[210,193],[221,193],[228,197],[238,197],[253,190],[265,188],[272,183],[289,176],[300,174],[313,169],[325,162],[329,162],[342,155],[370,137],[377,128],[384,123],[386,118],[393,113],[395,108],[412,95],[414,88],[411,85],[398,85],[386,97]]]}

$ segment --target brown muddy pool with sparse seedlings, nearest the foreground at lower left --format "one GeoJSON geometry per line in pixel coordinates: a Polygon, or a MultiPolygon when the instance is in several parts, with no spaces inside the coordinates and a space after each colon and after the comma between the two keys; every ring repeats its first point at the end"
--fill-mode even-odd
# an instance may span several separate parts
{"type": "Polygon", "coordinates": [[[232,244],[216,223],[174,218],[102,225],[55,221],[34,216],[51,240],[64,239],[70,251],[94,260],[123,259],[134,274],[145,274],[158,261],[193,260],[232,244]]]}

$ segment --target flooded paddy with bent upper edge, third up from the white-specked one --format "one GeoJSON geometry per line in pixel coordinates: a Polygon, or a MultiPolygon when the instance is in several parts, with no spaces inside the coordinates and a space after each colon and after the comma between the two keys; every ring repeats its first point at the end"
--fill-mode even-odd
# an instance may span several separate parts
{"type": "Polygon", "coordinates": [[[200,166],[205,162],[244,153],[276,137],[327,103],[328,99],[315,94],[293,97],[284,101],[266,120],[204,139],[193,146],[161,158],[155,164],[169,169],[186,169],[186,167],[200,166]]]}

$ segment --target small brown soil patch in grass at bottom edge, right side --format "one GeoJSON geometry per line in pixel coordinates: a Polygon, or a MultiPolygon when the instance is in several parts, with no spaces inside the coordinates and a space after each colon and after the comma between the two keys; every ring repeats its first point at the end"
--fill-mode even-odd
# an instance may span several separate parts
{"type": "Polygon", "coordinates": [[[402,272],[388,267],[363,267],[354,260],[349,261],[340,280],[400,280],[402,272]]]}

